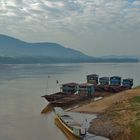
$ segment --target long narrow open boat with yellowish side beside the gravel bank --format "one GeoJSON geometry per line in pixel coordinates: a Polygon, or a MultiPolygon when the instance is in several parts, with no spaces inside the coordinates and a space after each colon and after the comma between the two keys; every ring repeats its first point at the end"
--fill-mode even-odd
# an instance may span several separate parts
{"type": "Polygon", "coordinates": [[[70,115],[66,114],[61,108],[55,107],[55,123],[66,134],[70,133],[76,139],[84,139],[86,129],[77,123],[70,115]]]}

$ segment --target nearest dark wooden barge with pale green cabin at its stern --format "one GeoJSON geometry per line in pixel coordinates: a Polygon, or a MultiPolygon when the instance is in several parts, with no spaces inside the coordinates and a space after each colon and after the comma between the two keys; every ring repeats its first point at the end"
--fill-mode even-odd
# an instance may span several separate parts
{"type": "MultiPolygon", "coordinates": [[[[67,88],[67,86],[65,87],[67,88]]],[[[57,107],[66,107],[76,104],[79,101],[84,101],[86,99],[92,98],[94,96],[94,85],[89,83],[82,83],[77,86],[77,92],[75,93],[55,93],[51,95],[45,95],[51,105],[57,107]]]]}

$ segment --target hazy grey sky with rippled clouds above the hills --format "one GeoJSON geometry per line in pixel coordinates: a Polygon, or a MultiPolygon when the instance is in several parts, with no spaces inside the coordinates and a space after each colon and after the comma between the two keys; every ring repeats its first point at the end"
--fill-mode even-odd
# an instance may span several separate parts
{"type": "Polygon", "coordinates": [[[0,33],[88,55],[140,55],[140,0],[0,0],[0,33]]]}

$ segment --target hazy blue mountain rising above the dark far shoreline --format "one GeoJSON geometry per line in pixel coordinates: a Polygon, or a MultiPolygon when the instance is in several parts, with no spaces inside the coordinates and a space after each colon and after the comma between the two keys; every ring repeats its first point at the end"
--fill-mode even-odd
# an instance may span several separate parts
{"type": "Polygon", "coordinates": [[[57,43],[27,43],[19,39],[0,35],[0,56],[6,57],[60,57],[87,59],[80,51],[65,48],[57,43]]]}

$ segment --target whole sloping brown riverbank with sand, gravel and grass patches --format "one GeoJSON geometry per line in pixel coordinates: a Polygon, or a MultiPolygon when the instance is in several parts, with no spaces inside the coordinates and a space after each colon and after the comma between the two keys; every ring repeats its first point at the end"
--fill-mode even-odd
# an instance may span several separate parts
{"type": "Polygon", "coordinates": [[[96,113],[89,132],[111,140],[140,139],[140,87],[123,91],[72,111],[96,113]]]}

